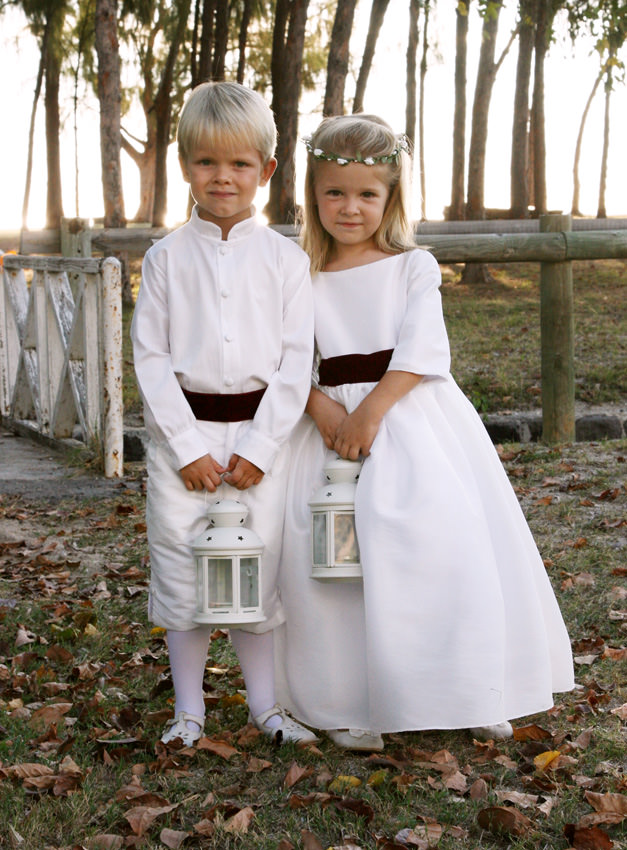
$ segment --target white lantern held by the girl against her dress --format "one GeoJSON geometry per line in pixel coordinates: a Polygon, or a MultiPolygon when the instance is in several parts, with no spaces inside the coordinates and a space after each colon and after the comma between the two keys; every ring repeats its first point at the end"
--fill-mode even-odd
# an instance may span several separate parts
{"type": "Polygon", "coordinates": [[[309,501],[311,508],[311,578],[358,581],[362,578],[355,530],[355,491],[361,461],[336,457],[324,468],[327,484],[309,501]]]}

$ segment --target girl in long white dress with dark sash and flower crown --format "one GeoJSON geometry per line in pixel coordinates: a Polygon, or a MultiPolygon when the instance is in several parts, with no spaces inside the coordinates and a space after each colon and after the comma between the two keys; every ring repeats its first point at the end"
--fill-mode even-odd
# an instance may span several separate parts
{"type": "Polygon", "coordinates": [[[407,214],[406,145],[354,115],[325,119],[307,148],[321,360],[292,437],[279,698],[350,749],[403,730],[509,737],[508,719],[573,687],[570,644],[498,455],[449,373],[439,268],[407,214]],[[333,453],[365,458],[363,583],[309,578],[308,499],[333,453]]]}

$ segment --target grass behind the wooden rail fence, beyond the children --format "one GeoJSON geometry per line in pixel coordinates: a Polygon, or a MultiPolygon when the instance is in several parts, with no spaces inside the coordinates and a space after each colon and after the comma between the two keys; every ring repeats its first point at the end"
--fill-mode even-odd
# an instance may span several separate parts
{"type": "MultiPolygon", "coordinates": [[[[462,286],[460,269],[442,267],[442,298],[455,379],[481,413],[540,407],[540,266],[491,266],[494,283],[462,286]]],[[[134,288],[139,266],[133,265],[134,288]]],[[[590,404],[624,402],[627,371],[627,261],[573,263],[575,395],[590,404]]],[[[124,311],[124,404],[141,403],[124,311]]]]}

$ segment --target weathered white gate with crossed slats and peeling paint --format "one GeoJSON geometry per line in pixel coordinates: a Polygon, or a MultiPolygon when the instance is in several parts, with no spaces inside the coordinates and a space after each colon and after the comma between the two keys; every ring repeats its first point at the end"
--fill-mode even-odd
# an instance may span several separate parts
{"type": "Polygon", "coordinates": [[[78,425],[122,475],[120,263],[4,254],[0,414],[54,439],[78,425]]]}

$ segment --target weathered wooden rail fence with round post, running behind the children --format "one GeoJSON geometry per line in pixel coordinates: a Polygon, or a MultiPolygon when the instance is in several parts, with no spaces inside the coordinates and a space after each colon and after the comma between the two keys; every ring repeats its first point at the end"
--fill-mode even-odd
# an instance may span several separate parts
{"type": "MultiPolygon", "coordinates": [[[[297,238],[291,225],[277,225],[284,235],[297,238]]],[[[143,256],[167,228],[132,226],[91,229],[84,219],[66,222],[64,232],[23,231],[21,250],[89,256],[121,252],[143,256]]],[[[8,240],[8,241],[7,241],[8,240]]],[[[9,247],[0,233],[0,247],[9,247]]],[[[416,243],[440,263],[540,263],[540,323],[542,359],[542,437],[546,442],[575,438],[574,316],[572,262],[627,258],[627,219],[575,219],[550,214],[540,220],[467,221],[419,224],[416,243]]]]}

